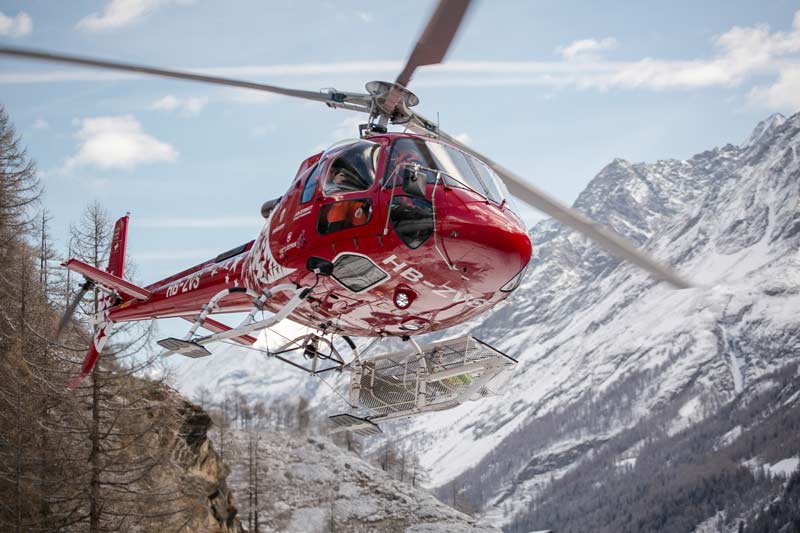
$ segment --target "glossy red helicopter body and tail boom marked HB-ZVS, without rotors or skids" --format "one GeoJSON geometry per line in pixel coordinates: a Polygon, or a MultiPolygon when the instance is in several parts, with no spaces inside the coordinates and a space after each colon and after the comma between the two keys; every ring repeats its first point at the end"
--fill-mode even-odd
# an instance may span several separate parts
{"type": "MultiPolygon", "coordinates": [[[[123,299],[114,322],[191,317],[226,288],[314,287],[289,318],[350,336],[455,326],[516,288],[531,257],[525,225],[487,165],[437,139],[387,133],[340,143],[300,165],[260,235],[123,299]],[[331,276],[307,268],[329,261],[331,276]]],[[[252,294],[252,292],[251,292],[252,294]]],[[[276,294],[277,311],[288,295],[276,294]]],[[[252,308],[234,292],[215,312],[252,308]]]]}

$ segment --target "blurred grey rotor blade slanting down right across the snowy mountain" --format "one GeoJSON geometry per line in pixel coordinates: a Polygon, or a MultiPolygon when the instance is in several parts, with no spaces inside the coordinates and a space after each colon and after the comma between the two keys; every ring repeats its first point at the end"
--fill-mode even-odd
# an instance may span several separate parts
{"type": "Polygon", "coordinates": [[[691,283],[681,277],[677,272],[665,265],[662,265],[657,260],[636,248],[623,237],[620,237],[613,231],[593,222],[583,213],[572,209],[571,207],[567,207],[549,194],[540,190],[538,187],[535,187],[523,180],[502,165],[495,163],[488,157],[476,152],[469,146],[464,145],[463,143],[454,139],[452,136],[439,130],[436,124],[425,119],[424,117],[414,114],[411,122],[409,123],[409,127],[420,133],[436,133],[448,143],[453,144],[464,152],[467,152],[468,154],[485,161],[494,169],[495,172],[500,175],[511,194],[531,205],[532,207],[535,207],[539,211],[550,215],[562,224],[569,226],[575,231],[578,231],[579,233],[589,237],[617,257],[643,268],[644,270],[650,272],[655,278],[663,279],[676,288],[686,289],[692,286],[691,283]]]}

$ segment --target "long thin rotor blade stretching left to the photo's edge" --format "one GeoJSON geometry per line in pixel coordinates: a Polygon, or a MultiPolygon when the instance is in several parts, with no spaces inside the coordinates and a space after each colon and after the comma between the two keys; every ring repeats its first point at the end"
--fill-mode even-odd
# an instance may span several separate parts
{"type": "MultiPolygon", "coordinates": [[[[31,48],[16,48],[16,47],[0,47],[0,55],[20,57],[24,59],[34,59],[38,61],[50,61],[56,63],[67,63],[71,65],[82,65],[86,67],[95,67],[108,70],[118,70],[122,72],[133,72],[136,74],[147,74],[150,76],[161,76],[163,78],[173,78],[180,80],[196,81],[201,83],[211,83],[214,85],[224,85],[227,87],[238,87],[240,89],[254,89],[257,91],[266,91],[275,94],[282,94],[284,96],[291,96],[294,98],[303,98],[305,100],[314,100],[316,102],[323,102],[336,107],[336,104],[364,105],[368,106],[369,95],[361,95],[356,93],[343,93],[343,92],[329,92],[321,93],[314,91],[304,91],[301,89],[288,89],[286,87],[278,87],[276,85],[267,85],[264,83],[254,83],[250,81],[235,80],[231,78],[221,78],[218,76],[206,76],[204,74],[195,74],[192,72],[184,72],[179,70],[168,70],[162,68],[148,67],[145,65],[136,65],[133,63],[122,63],[119,61],[106,61],[103,59],[96,59],[92,57],[75,56],[68,54],[60,54],[50,52],[47,50],[35,50],[31,48]]],[[[343,106],[342,106],[343,107],[343,106]]],[[[352,107],[348,107],[352,109],[352,107]]],[[[361,109],[354,109],[361,111],[361,109]]],[[[364,109],[363,111],[368,111],[364,109]]]]}

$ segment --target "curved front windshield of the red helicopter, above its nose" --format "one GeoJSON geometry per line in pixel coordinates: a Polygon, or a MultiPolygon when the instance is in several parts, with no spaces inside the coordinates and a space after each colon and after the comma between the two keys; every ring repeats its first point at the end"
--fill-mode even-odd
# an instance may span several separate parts
{"type": "Polygon", "coordinates": [[[498,204],[508,197],[505,185],[486,163],[442,143],[410,137],[397,139],[384,185],[398,166],[403,165],[441,171],[448,185],[469,188],[498,204]]]}

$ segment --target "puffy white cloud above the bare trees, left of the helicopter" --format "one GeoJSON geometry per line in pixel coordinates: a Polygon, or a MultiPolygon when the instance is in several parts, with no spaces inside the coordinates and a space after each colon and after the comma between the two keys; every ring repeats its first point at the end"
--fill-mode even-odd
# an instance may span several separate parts
{"type": "Polygon", "coordinates": [[[132,115],[85,118],[79,124],[78,153],[67,159],[65,170],[80,166],[131,169],[178,157],[172,146],[142,131],[132,115]]]}

